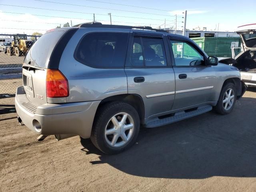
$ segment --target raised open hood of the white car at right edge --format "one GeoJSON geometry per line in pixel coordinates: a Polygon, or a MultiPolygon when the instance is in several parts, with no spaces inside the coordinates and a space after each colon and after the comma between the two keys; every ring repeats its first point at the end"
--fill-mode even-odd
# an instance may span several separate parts
{"type": "Polygon", "coordinates": [[[256,23],[239,26],[236,33],[242,38],[244,50],[256,50],[256,23]]]}

